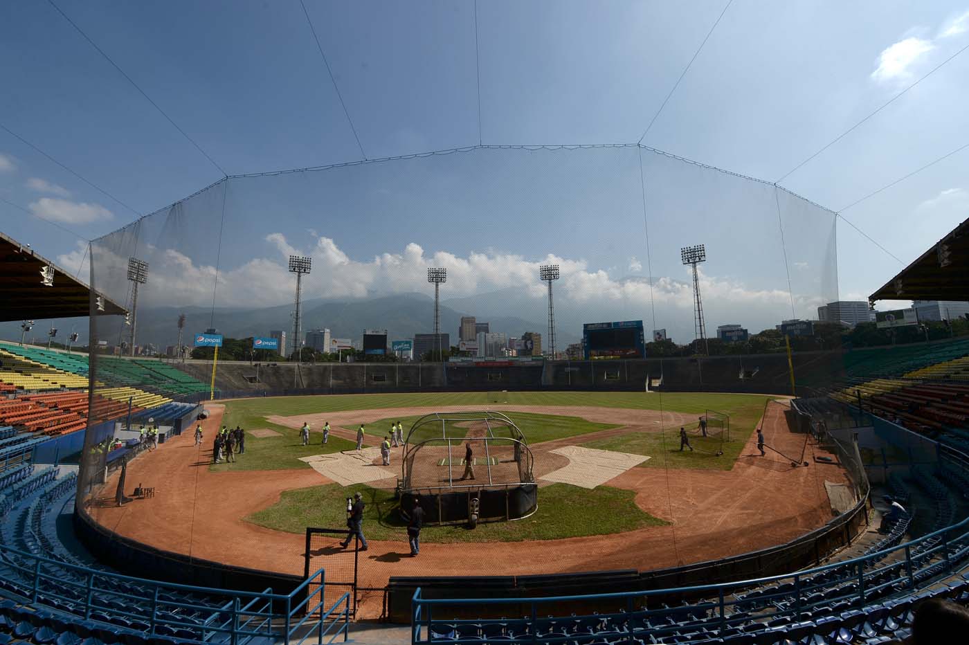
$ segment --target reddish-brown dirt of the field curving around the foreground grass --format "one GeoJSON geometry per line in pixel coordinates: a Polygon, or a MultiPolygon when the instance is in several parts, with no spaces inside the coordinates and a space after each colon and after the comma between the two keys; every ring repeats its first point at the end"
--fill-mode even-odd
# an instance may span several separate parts
{"type": "MultiPolygon", "coordinates": [[[[205,407],[210,412],[203,421],[205,435],[212,436],[210,432],[222,423],[223,406],[205,407]]],[[[632,421],[631,425],[651,426],[653,430],[659,427],[652,423],[659,420],[659,413],[650,411],[507,408],[578,415],[592,421],[632,421]]],[[[798,455],[805,445],[804,435],[788,430],[784,410],[786,406],[777,403],[767,408],[766,443],[784,453],[798,455]]],[[[409,409],[409,414],[415,414],[414,410],[409,409]]],[[[395,415],[405,413],[396,409],[326,416],[333,425],[338,416],[347,421],[353,418],[356,422],[366,417],[395,415]]],[[[681,416],[685,419],[688,415],[681,416]]],[[[300,423],[303,418],[299,417],[300,423]]],[[[323,415],[320,418],[318,425],[322,426],[323,415]]],[[[575,437],[572,443],[580,444],[589,436],[575,437]]],[[[163,550],[238,567],[301,574],[304,536],[272,531],[243,518],[274,505],[285,490],[328,483],[329,479],[309,468],[213,473],[208,469],[210,445],[197,447],[193,443],[192,433],[184,433],[129,464],[128,485],[154,486],[154,498],[113,507],[117,485],[117,474],[114,474],[99,493],[104,506],[92,507],[92,516],[112,531],[163,550]]],[[[391,576],[465,575],[469,570],[487,575],[618,568],[648,570],[714,560],[780,544],[831,519],[826,480],[848,482],[840,466],[816,463],[812,458],[812,452],[828,453],[818,451],[813,445],[807,448],[805,459],[811,462],[810,466],[792,468],[790,461],[777,454],[768,452],[766,457],[761,457],[756,448],[756,435],[752,434],[731,471],[632,468],[608,481],[610,486],[635,491],[636,504],[672,522],[668,526],[611,536],[475,543],[426,541],[434,531],[428,527],[422,535],[421,555],[417,558],[408,557],[406,533],[401,529],[399,540],[370,540],[369,550],[360,554],[359,584],[382,587],[391,576]]],[[[239,459],[245,459],[245,455],[239,459]]],[[[662,463],[663,456],[653,459],[662,463]]],[[[365,534],[365,524],[363,531],[365,534]]],[[[326,567],[326,557],[314,561],[316,565],[326,567]]],[[[361,616],[379,613],[379,602],[361,606],[361,616]]]]}

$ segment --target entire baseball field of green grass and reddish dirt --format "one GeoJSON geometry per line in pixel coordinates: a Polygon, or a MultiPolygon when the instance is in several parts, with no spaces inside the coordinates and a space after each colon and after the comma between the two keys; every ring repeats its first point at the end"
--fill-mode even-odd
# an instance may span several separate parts
{"type": "MultiPolygon", "coordinates": [[[[301,573],[306,527],[345,529],[346,498],[359,491],[369,541],[360,554],[360,584],[373,588],[395,575],[466,574],[469,568],[497,575],[677,566],[782,543],[831,517],[826,481],[847,478],[836,463],[814,461],[827,453],[790,431],[787,405],[762,395],[654,392],[212,402],[205,405],[202,445],[185,432],[129,465],[128,481],[153,485],[154,498],[122,508],[108,503],[94,515],[111,530],[159,548],[301,573]],[[485,410],[507,415],[525,436],[534,454],[537,511],[475,529],[427,526],[421,555],[408,557],[394,496],[404,449],[391,449],[388,467],[376,446],[396,421],[406,436],[422,415],[485,410]],[[729,440],[712,425],[704,438],[701,416],[729,416],[729,440]],[[323,445],[326,422],[332,430],[323,445]],[[303,423],[311,428],[308,445],[300,439],[303,423]],[[245,452],[234,463],[213,464],[211,440],[223,424],[246,431],[245,452]],[[357,450],[360,424],[366,434],[357,450]],[[761,456],[754,437],[759,424],[777,452],[761,456]],[[693,450],[680,450],[681,427],[693,450]],[[810,466],[793,468],[788,456],[801,452],[810,466]],[[624,465],[604,469],[586,461],[589,454],[624,465]]],[[[109,479],[106,499],[115,484],[109,479]]],[[[333,545],[311,555],[313,567],[336,567],[343,557],[333,545]]]]}

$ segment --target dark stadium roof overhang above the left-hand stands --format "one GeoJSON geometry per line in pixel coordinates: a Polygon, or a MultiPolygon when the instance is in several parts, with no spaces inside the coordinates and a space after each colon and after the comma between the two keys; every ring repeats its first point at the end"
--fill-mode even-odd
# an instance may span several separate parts
{"type": "MultiPolygon", "coordinates": [[[[104,315],[127,311],[101,296],[104,315]]],[[[90,313],[90,290],[27,244],[0,233],[0,322],[73,318],[90,313]],[[45,275],[46,273],[46,275],[45,275]],[[49,286],[44,284],[49,278],[49,286]]]]}

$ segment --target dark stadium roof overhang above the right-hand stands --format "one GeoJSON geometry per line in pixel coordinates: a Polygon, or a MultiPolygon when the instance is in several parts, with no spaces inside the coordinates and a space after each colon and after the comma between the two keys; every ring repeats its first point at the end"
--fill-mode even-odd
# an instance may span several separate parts
{"type": "Polygon", "coordinates": [[[969,300],[969,220],[868,296],[872,303],[908,299],[969,300]]]}

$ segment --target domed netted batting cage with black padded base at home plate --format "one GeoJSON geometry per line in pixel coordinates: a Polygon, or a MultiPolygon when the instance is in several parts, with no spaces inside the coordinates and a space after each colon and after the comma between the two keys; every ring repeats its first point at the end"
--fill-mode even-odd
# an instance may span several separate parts
{"type": "Polygon", "coordinates": [[[428,524],[521,519],[538,508],[534,466],[525,436],[506,415],[424,415],[404,442],[400,507],[417,498],[428,524]]]}

